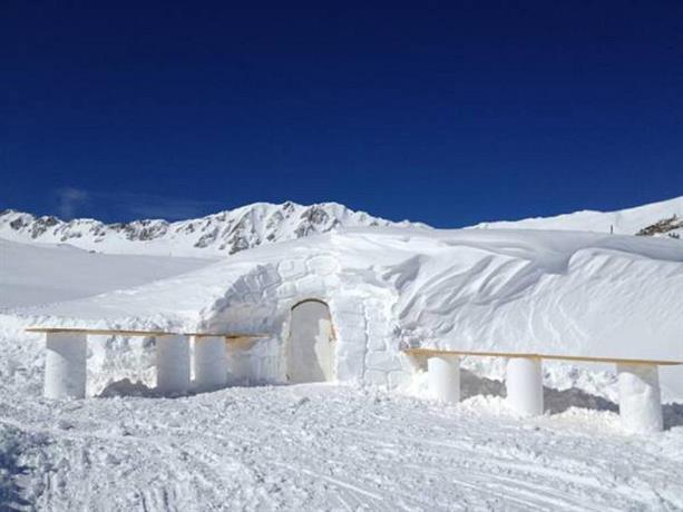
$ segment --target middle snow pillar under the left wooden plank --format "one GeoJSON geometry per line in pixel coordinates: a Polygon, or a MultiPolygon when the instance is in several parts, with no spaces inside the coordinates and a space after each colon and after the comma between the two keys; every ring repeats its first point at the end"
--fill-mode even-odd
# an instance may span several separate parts
{"type": "Polygon", "coordinates": [[[156,338],[156,388],[162,394],[183,394],[189,388],[189,343],[187,336],[156,338]]]}

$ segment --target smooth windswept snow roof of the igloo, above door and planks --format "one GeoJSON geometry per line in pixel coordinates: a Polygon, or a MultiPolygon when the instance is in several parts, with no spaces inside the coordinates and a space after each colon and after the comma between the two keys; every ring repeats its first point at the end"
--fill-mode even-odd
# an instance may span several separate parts
{"type": "MultiPolygon", "coordinates": [[[[411,346],[683,360],[683,244],[541,230],[359,228],[246,250],[36,323],[263,331],[284,287],[374,296],[411,346]]],[[[309,293],[310,295],[310,293],[309,293]]]]}

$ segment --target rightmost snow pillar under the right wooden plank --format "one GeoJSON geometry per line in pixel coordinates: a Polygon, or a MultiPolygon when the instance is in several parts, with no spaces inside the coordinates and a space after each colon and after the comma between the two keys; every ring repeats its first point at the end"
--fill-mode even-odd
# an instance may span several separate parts
{"type": "Polygon", "coordinates": [[[661,432],[662,400],[656,364],[616,365],[619,383],[619,416],[628,432],[661,432]]]}

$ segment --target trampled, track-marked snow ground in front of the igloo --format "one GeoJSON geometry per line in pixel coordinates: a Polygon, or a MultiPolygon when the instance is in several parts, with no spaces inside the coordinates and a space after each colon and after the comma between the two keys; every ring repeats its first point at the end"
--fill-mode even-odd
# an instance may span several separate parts
{"type": "Polygon", "coordinates": [[[643,437],[611,411],[519,420],[499,396],[445,406],[324,384],[0,401],[0,440],[26,467],[8,492],[38,509],[683,508],[683,416],[643,437]]]}

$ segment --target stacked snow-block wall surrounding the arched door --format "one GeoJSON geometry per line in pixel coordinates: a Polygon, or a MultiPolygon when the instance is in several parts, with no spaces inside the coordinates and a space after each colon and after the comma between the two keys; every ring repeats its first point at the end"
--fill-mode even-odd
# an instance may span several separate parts
{"type": "MultiPolygon", "coordinates": [[[[203,328],[211,332],[273,334],[241,357],[252,383],[286,382],[292,308],[320,301],[330,308],[334,329],[333,374],[338,381],[363,381],[397,387],[410,382],[411,367],[399,351],[391,305],[383,287],[340,277],[332,255],[287,258],[262,265],[241,277],[203,328]]],[[[231,356],[228,355],[228,358],[231,356]]]]}

